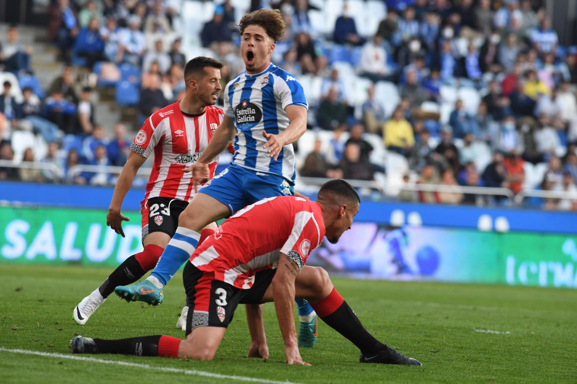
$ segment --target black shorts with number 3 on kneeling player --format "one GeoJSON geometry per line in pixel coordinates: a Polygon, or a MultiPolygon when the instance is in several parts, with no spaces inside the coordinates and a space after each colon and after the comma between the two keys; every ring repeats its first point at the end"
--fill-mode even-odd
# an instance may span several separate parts
{"type": "Polygon", "coordinates": [[[250,289],[240,289],[215,280],[214,272],[204,272],[187,262],[182,272],[188,303],[186,334],[197,327],[227,327],[238,304],[260,304],[275,276],[275,269],[256,273],[250,289]]]}

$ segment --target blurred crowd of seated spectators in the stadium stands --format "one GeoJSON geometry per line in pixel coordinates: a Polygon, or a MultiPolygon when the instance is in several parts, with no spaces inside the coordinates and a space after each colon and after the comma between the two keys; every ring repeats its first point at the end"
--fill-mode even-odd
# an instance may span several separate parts
{"type": "MultiPolygon", "coordinates": [[[[297,143],[299,175],[377,180],[403,201],[444,204],[479,204],[482,197],[402,186],[577,192],[577,47],[559,44],[538,0],[217,3],[54,1],[48,35],[66,66],[47,90],[30,71],[33,52],[10,28],[1,65],[17,76],[21,94],[3,83],[0,159],[14,159],[14,133],[28,130],[48,143],[47,154],[38,159],[28,148],[21,161],[65,171],[123,165],[130,138],[122,124],[112,137],[112,127],[98,125],[95,87],[115,87],[120,106],[137,108],[137,125],[181,99],[183,66],[197,54],[226,63],[224,87],[243,70],[238,15],[264,5],[279,7],[287,24],[273,63],[301,82],[309,100],[309,130],[297,143]],[[209,20],[199,24],[207,9],[209,20]],[[328,12],[337,13],[334,25],[327,26],[328,12]],[[83,67],[81,75],[69,65],[83,67]]],[[[54,177],[0,167],[0,179],[54,177]]],[[[83,173],[68,182],[114,178],[83,173]]],[[[525,203],[577,209],[567,199],[525,203]]]]}

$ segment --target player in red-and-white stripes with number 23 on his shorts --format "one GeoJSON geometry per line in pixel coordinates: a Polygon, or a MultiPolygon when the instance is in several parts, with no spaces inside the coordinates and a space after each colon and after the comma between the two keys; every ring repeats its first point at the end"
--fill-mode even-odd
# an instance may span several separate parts
{"type": "MultiPolygon", "coordinates": [[[[195,193],[192,175],[184,170],[207,148],[224,116],[223,110],[213,106],[222,89],[220,68],[222,63],[207,57],[196,57],[186,63],[184,98],[152,114],[130,145],[132,150],[114,187],[106,224],[124,236],[122,221],[129,219],[120,213],[122,201],[138,168],[154,152],[154,166],[142,202],[144,250],[127,258],[98,289],[74,308],[74,319],[79,324],[84,325],[88,321],[117,285],[134,283],[154,268],[174,235],[178,216],[195,193]]],[[[208,160],[211,176],[217,161],[218,154],[208,160]]],[[[212,234],[216,224],[207,223],[203,227],[204,239],[212,234]]],[[[182,313],[188,313],[186,306],[182,313]]],[[[177,326],[184,329],[184,317],[179,319],[177,326]]]]}

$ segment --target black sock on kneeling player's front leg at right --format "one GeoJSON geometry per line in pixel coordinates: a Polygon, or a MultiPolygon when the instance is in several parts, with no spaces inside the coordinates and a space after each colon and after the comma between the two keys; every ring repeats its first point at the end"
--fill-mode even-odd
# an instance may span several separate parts
{"type": "Polygon", "coordinates": [[[343,302],[336,311],[321,319],[336,332],[348,338],[361,352],[378,353],[386,347],[367,332],[347,302],[343,302]]]}

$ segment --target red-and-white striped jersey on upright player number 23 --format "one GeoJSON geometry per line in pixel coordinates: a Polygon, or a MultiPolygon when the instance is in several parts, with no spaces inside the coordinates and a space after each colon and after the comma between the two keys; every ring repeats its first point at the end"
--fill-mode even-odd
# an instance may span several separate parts
{"type": "MultiPolygon", "coordinates": [[[[198,160],[207,148],[223,116],[223,111],[215,106],[206,107],[200,115],[185,115],[177,101],[147,119],[130,144],[130,149],[138,155],[148,157],[154,152],[144,202],[151,197],[190,202],[195,193],[192,173],[186,173],[184,169],[198,160]]],[[[218,156],[208,164],[211,178],[217,162],[218,156]]]]}

